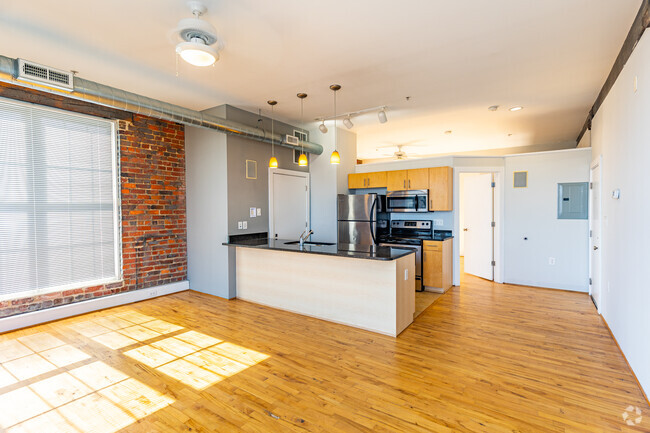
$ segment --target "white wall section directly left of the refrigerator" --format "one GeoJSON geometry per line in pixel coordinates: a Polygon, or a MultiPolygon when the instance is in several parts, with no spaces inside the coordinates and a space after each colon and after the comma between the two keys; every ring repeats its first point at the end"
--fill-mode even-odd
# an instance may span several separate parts
{"type": "Polygon", "coordinates": [[[323,146],[323,153],[310,157],[311,174],[311,239],[336,242],[336,195],[348,193],[348,174],[354,173],[357,162],[357,136],[353,132],[338,130],[338,151],[341,164],[332,165],[330,156],[334,151],[334,128],[326,134],[318,128],[309,132],[314,141],[323,146]]]}

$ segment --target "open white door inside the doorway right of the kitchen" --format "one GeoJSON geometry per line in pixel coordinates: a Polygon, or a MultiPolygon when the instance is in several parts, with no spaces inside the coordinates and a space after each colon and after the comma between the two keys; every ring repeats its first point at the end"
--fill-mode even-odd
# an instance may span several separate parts
{"type": "Polygon", "coordinates": [[[462,226],[464,235],[465,273],[494,279],[493,230],[494,196],[492,174],[465,174],[462,226]]]}

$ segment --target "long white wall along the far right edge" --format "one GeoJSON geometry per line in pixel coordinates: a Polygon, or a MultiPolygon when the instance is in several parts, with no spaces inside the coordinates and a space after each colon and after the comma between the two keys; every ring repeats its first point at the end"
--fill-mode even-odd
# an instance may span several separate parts
{"type": "Polygon", "coordinates": [[[592,122],[593,159],[603,156],[601,313],[650,393],[650,31],[592,122]],[[637,78],[638,88],[634,89],[637,78]],[[620,188],[619,200],[611,198],[620,188]]]}

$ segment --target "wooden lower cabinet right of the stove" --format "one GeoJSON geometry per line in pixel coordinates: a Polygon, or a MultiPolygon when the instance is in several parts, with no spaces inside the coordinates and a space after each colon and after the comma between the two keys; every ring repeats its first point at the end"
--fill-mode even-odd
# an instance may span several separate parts
{"type": "Polygon", "coordinates": [[[444,293],[452,286],[452,242],[424,241],[422,283],[425,289],[444,293]]]}

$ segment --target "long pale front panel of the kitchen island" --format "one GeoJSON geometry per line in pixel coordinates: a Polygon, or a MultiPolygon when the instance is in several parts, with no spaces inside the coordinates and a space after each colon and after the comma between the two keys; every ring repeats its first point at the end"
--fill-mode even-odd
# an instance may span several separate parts
{"type": "Polygon", "coordinates": [[[237,248],[237,298],[397,335],[396,261],[237,248]]]}

